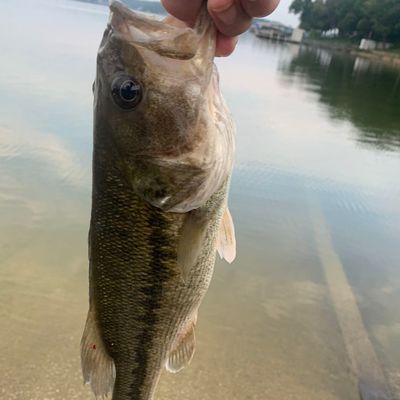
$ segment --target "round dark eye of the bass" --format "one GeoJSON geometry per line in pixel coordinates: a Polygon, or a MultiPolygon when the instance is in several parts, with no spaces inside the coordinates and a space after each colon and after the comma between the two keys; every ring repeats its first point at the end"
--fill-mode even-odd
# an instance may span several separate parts
{"type": "Polygon", "coordinates": [[[120,108],[133,110],[142,99],[142,88],[133,78],[123,75],[114,79],[111,94],[120,108]]]}

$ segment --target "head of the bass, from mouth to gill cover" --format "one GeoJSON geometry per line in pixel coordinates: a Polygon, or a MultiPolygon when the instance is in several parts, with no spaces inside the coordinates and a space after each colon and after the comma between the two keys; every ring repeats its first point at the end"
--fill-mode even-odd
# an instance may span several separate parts
{"type": "Polygon", "coordinates": [[[104,143],[105,157],[113,155],[145,201],[174,212],[198,208],[232,164],[230,116],[213,63],[215,28],[205,12],[192,29],[117,1],[110,8],[97,58],[95,146],[104,143]]]}

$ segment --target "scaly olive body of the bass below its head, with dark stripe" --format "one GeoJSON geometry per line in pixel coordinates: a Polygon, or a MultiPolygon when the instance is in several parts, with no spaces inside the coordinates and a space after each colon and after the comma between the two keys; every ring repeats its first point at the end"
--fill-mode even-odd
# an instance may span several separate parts
{"type": "MultiPolygon", "coordinates": [[[[222,216],[225,191],[205,205],[215,219],[222,216]]],[[[96,192],[91,295],[105,347],[116,365],[114,397],[148,399],[178,328],[208,288],[215,251],[205,245],[190,281],[183,282],[176,263],[183,216],[142,201],[118,176],[107,176],[96,192]]],[[[209,244],[216,231],[216,225],[209,227],[209,244]]]]}

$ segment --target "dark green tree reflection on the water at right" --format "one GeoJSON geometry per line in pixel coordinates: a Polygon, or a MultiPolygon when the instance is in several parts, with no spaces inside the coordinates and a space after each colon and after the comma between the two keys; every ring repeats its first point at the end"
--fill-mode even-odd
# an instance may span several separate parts
{"type": "Polygon", "coordinates": [[[282,70],[290,79],[307,82],[333,118],[357,126],[361,142],[383,149],[400,147],[400,69],[301,48],[282,70]]]}

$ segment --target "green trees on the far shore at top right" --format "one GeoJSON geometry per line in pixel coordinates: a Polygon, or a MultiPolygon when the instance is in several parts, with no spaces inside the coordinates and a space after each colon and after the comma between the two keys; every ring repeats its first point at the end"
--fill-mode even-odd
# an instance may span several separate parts
{"type": "Polygon", "coordinates": [[[308,31],[400,42],[400,0],[293,0],[289,10],[308,31]]]}

